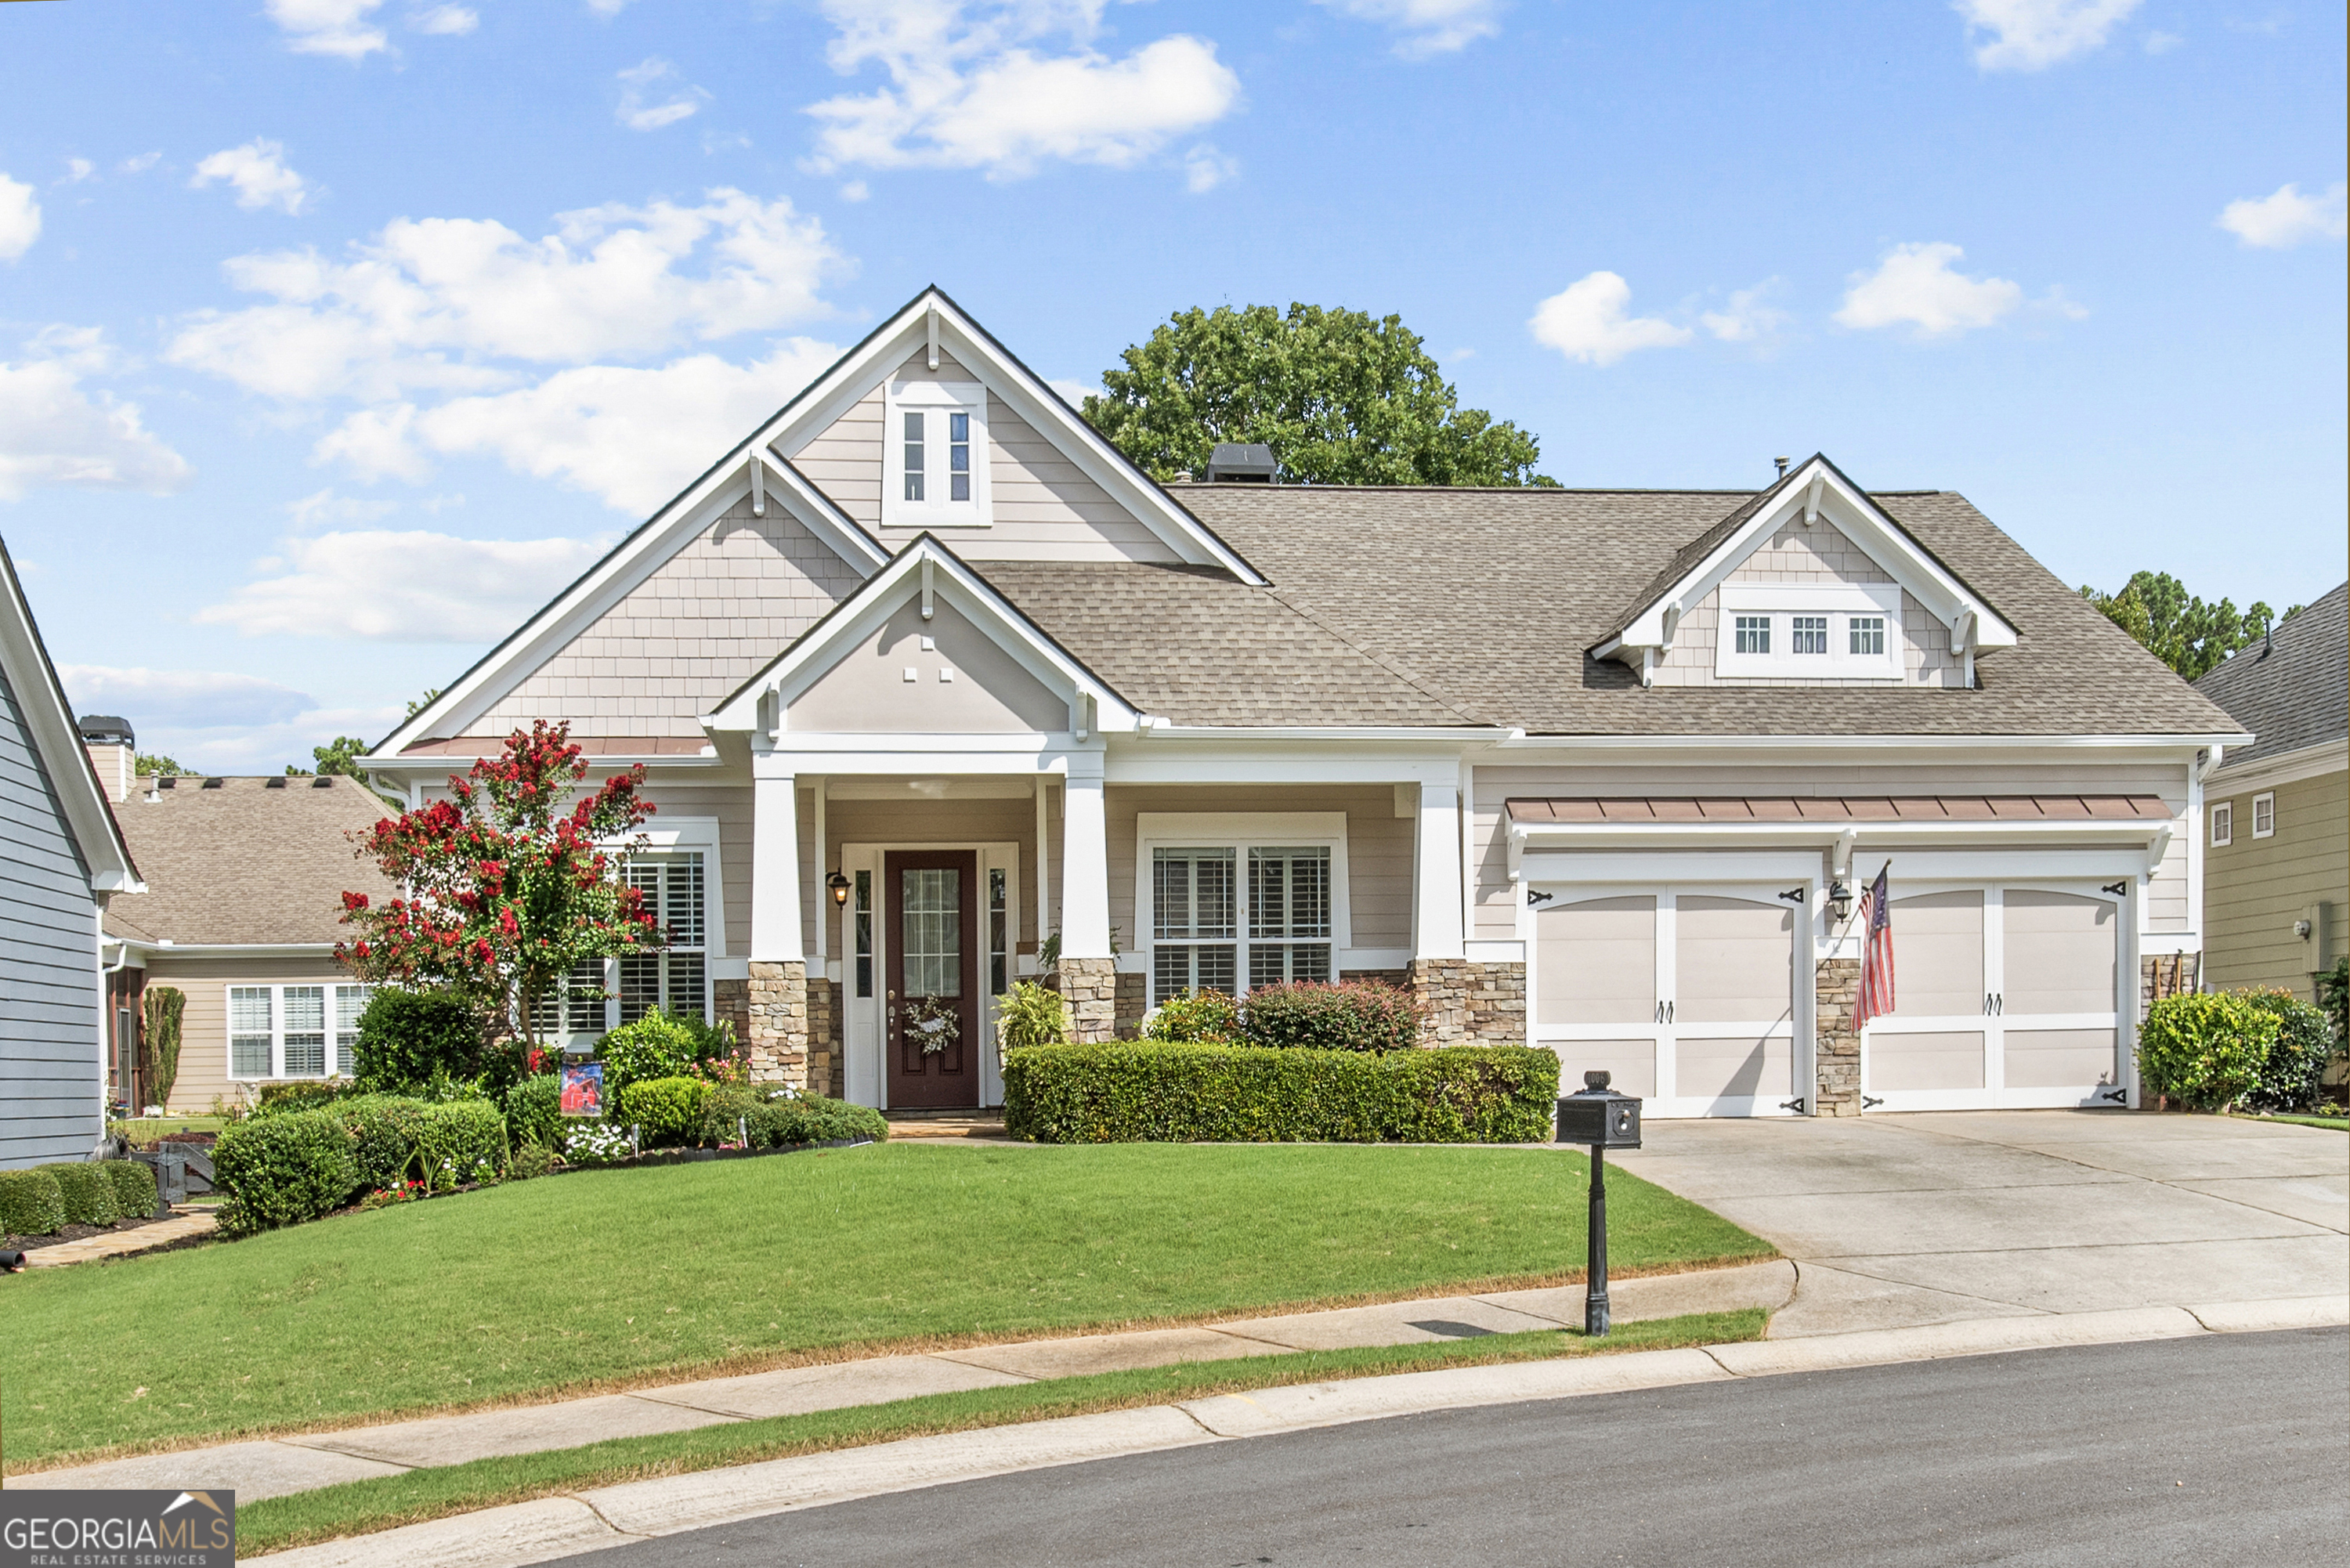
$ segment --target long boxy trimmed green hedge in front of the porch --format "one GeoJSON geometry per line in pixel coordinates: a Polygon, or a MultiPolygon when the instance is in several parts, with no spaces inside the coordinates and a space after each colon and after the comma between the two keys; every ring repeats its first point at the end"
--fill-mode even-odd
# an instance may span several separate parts
{"type": "Polygon", "coordinates": [[[1558,1058],[1528,1046],[1013,1051],[1003,1121],[1036,1143],[1535,1143],[1558,1058]]]}

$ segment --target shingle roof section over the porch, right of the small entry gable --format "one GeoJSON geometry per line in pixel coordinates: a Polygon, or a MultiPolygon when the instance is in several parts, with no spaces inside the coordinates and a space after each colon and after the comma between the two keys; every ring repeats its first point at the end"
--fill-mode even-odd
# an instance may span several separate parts
{"type": "Polygon", "coordinates": [[[1478,724],[1307,611],[1213,567],[980,562],[973,571],[1137,710],[1177,724],[1478,724]]]}

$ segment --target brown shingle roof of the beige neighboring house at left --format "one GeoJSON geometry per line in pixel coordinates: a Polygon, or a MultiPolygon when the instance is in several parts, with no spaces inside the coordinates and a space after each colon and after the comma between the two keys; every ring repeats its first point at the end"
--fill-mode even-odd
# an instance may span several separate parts
{"type": "Polygon", "coordinates": [[[174,778],[153,792],[148,783],[115,802],[148,891],[106,907],[108,936],[183,947],[334,943],[348,936],[345,889],[378,900],[395,891],[345,837],[388,816],[355,778],[221,778],[212,790],[174,778]]]}

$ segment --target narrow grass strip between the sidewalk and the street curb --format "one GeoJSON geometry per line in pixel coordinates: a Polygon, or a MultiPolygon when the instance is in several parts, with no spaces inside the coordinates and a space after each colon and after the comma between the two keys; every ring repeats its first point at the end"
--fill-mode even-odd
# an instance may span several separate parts
{"type": "Polygon", "coordinates": [[[446,1514],[526,1502],[620,1481],[679,1476],[721,1465],[752,1465],[794,1453],[860,1448],[938,1432],[971,1432],[1010,1422],[1128,1410],[1135,1406],[1243,1394],[1290,1382],[1337,1382],[1445,1366],[1546,1361],[1676,1345],[1727,1345],[1762,1338],[1765,1312],[1706,1312],[1645,1324],[1622,1324],[1605,1340],[1579,1331],[1497,1333],[1443,1345],[1382,1345],[1323,1349],[1243,1361],[1191,1361],[1093,1378],[1055,1378],[968,1394],[928,1394],[884,1406],[778,1415],[696,1432],[613,1439],[585,1448],[555,1448],[437,1469],[411,1469],[374,1481],[345,1481],[237,1509],[237,1549],[282,1552],[338,1535],[364,1535],[446,1514]]]}

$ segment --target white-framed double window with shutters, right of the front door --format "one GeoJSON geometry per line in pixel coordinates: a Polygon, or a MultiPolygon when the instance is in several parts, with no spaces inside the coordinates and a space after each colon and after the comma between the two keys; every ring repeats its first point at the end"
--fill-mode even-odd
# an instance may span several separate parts
{"type": "Polygon", "coordinates": [[[1149,865],[1152,1006],[1332,978],[1330,844],[1163,844],[1149,865]]]}

